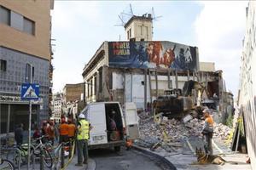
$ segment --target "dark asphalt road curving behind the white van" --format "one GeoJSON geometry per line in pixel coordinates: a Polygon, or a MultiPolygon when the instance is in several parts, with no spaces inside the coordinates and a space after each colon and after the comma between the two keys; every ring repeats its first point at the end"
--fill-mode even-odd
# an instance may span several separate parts
{"type": "Polygon", "coordinates": [[[170,169],[162,161],[137,150],[90,150],[90,157],[96,161],[96,170],[160,170],[170,169]]]}

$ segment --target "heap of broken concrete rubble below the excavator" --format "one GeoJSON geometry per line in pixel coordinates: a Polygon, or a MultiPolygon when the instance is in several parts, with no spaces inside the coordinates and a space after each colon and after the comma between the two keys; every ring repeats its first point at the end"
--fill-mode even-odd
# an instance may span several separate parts
{"type": "MultiPolygon", "coordinates": [[[[183,142],[191,136],[200,136],[204,124],[204,120],[197,118],[184,122],[183,119],[179,121],[160,115],[158,117],[160,120],[155,123],[154,116],[149,116],[146,112],[141,112],[138,116],[140,117],[140,139],[137,140],[137,144],[156,152],[182,151],[183,142]]],[[[230,127],[214,123],[214,138],[224,140],[230,131],[230,127]]]]}

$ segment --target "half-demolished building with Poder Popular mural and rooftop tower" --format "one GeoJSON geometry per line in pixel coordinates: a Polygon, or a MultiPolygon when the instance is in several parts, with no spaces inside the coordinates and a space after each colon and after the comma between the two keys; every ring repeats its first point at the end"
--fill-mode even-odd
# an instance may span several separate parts
{"type": "MultiPolygon", "coordinates": [[[[132,17],[128,23],[133,26],[134,20],[139,27],[141,18],[132,17]]],[[[103,42],[84,66],[82,75],[86,102],[135,102],[138,109],[146,110],[160,96],[183,89],[185,82],[195,81],[204,90],[190,89],[188,96],[193,105],[213,104],[212,109],[218,111],[217,119],[224,122],[227,105],[230,104],[224,99],[227,94],[222,71],[211,69],[214,68],[211,63],[207,63],[211,66],[200,66],[196,47],[177,42],[151,41],[148,37],[145,38],[148,41],[135,41],[137,31],[134,27],[129,28],[129,41],[126,42],[103,42]],[[135,32],[131,33],[132,30],[135,32]],[[200,67],[204,70],[201,71],[200,67]]]]}

